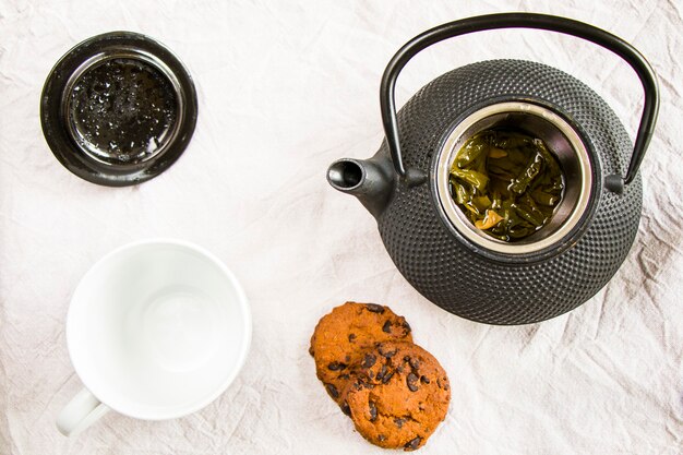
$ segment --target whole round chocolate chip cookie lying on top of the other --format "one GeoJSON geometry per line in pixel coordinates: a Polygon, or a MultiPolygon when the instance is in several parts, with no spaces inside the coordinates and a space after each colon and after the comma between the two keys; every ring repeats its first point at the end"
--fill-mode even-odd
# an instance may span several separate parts
{"type": "Polygon", "coordinates": [[[385,342],[363,352],[342,396],[360,434],[386,448],[421,447],[446,417],[446,372],[412,343],[385,342]]]}

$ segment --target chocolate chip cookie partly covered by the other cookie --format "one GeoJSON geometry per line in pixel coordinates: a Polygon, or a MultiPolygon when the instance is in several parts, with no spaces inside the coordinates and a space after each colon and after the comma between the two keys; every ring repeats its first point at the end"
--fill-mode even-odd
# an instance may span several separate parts
{"type": "Polygon", "coordinates": [[[337,404],[363,351],[387,340],[412,342],[406,320],[388,307],[346,302],[320,320],[309,352],[315,359],[317,379],[337,404]]]}

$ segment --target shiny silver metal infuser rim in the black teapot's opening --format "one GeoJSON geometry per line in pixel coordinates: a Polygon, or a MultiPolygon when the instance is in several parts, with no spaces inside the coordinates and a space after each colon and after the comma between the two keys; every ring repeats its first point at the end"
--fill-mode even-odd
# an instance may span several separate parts
{"type": "Polygon", "coordinates": [[[535,253],[560,242],[588,208],[592,185],[590,157],[578,132],[554,111],[526,101],[498,103],[469,115],[451,132],[436,161],[436,191],[448,221],[475,244],[503,254],[535,253]],[[535,124],[537,131],[518,125],[525,122],[535,124]],[[522,128],[542,139],[559,159],[565,178],[563,199],[550,223],[515,242],[495,239],[477,229],[457,206],[450,190],[450,170],[460,146],[474,134],[498,125],[522,128]]]}

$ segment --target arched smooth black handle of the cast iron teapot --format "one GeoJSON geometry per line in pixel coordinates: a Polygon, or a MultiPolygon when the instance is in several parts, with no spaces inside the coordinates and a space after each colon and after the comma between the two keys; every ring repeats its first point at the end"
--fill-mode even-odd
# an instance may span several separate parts
{"type": "Polygon", "coordinates": [[[538,28],[573,35],[611,50],[624,59],[635,70],[643,84],[645,103],[633,154],[631,156],[631,163],[628,165],[628,171],[625,178],[614,175],[608,176],[606,181],[610,190],[622,192],[624,184],[631,183],[636,177],[640,161],[645,156],[645,152],[647,151],[655,131],[655,123],[657,122],[657,113],[659,111],[659,88],[657,86],[655,72],[647,60],[645,60],[645,57],[633,46],[603,29],[571,19],[535,13],[488,14],[448,22],[416,36],[396,52],[388,62],[386,70],[384,70],[382,84],[380,86],[382,122],[384,124],[386,142],[392,154],[392,161],[394,163],[396,172],[402,177],[406,177],[407,175],[400,154],[398,122],[396,119],[396,100],[394,97],[396,80],[400,71],[412,57],[433,44],[472,32],[498,28],[538,28]]]}

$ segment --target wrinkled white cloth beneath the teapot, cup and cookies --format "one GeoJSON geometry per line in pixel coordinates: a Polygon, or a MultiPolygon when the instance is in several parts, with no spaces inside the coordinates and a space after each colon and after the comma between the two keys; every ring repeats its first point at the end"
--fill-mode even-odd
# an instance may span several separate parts
{"type": "MultiPolygon", "coordinates": [[[[679,0],[0,0],[0,454],[384,454],[315,379],[316,321],[347,299],[404,314],[448,372],[453,400],[427,454],[680,454],[683,440],[683,5],[679,0]],[[372,217],[325,181],[336,158],[380,145],[379,84],[409,38],[480,13],[583,20],[633,43],[662,105],[642,172],[645,207],[622,268],[577,310],[496,327],[431,304],[400,276],[372,217]],[[97,187],[53,158],[43,83],[72,46],[113,29],[169,46],[196,83],[185,154],[139,187],[97,187]],[[55,417],[82,386],[64,319],[103,254],[148,237],[221,258],[251,301],[239,379],[187,418],[109,414],[75,439],[55,417]]],[[[439,44],[398,82],[403,104],[450,69],[492,58],[546,62],[594,87],[632,137],[642,89],[608,51],[552,33],[488,32],[439,44]]]]}

